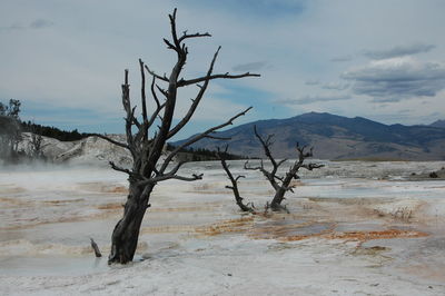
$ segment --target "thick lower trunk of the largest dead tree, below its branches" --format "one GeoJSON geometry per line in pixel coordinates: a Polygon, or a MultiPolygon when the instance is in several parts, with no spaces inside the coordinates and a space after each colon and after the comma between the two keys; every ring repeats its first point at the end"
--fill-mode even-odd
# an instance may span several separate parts
{"type": "Polygon", "coordinates": [[[132,260],[138,246],[139,229],[144,215],[149,207],[148,200],[152,188],[154,185],[140,188],[130,182],[130,194],[125,205],[123,217],[112,231],[108,264],[127,264],[132,260]]]}

